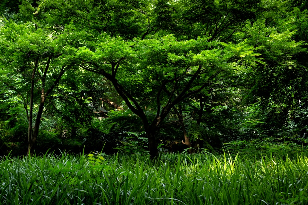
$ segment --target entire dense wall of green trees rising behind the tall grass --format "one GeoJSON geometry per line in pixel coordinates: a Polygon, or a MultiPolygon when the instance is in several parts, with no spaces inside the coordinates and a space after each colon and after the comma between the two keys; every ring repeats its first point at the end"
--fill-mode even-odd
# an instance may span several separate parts
{"type": "Polygon", "coordinates": [[[2,1],[1,154],[306,148],[307,6],[2,1]]]}

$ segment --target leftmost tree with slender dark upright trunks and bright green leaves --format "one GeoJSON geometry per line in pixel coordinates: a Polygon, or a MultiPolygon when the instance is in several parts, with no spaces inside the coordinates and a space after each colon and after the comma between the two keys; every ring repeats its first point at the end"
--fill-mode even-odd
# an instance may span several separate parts
{"type": "Polygon", "coordinates": [[[0,28],[1,81],[22,99],[28,119],[28,154],[38,137],[47,97],[72,67],[69,56],[74,51],[67,46],[67,31],[37,23],[3,19],[0,28]]]}

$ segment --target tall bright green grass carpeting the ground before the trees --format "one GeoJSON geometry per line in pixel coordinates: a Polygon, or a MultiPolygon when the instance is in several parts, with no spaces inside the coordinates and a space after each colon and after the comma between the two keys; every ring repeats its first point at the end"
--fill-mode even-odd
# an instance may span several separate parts
{"type": "Polygon", "coordinates": [[[0,160],[0,204],[308,204],[308,158],[46,154],[0,160]]]}

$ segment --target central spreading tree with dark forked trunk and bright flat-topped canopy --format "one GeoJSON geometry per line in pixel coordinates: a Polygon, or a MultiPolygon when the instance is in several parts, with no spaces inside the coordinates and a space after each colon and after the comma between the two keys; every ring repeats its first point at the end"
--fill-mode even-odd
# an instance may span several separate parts
{"type": "Polygon", "coordinates": [[[258,61],[251,47],[201,37],[177,41],[169,35],[124,41],[102,35],[99,40],[95,51],[79,49],[80,66],[111,81],[128,108],[141,118],[153,157],[157,155],[158,126],[176,104],[212,86],[227,73],[230,76],[237,68],[231,60],[234,55],[241,53],[243,61],[258,61]],[[237,51],[232,53],[233,49],[237,51]],[[146,115],[145,106],[156,113],[153,118],[146,115]]]}

